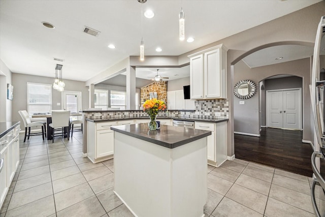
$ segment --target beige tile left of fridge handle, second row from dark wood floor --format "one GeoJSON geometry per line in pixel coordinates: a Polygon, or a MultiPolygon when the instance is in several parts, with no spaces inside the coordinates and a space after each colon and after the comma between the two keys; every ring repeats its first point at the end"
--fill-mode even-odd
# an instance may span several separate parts
{"type": "Polygon", "coordinates": [[[300,181],[294,178],[285,177],[282,175],[274,174],[273,184],[295,190],[307,195],[310,195],[310,185],[308,182],[300,181]]]}

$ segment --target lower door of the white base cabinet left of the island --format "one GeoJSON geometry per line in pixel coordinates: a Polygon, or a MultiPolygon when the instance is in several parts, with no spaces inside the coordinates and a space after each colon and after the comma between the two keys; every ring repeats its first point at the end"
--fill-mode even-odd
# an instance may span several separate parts
{"type": "Polygon", "coordinates": [[[96,139],[96,158],[106,157],[114,153],[114,131],[97,131],[96,139]]]}

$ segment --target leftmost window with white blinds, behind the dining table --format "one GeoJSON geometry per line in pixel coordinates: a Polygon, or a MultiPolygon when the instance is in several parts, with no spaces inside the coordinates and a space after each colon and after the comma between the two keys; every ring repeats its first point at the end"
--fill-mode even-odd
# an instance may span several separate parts
{"type": "Polygon", "coordinates": [[[49,113],[52,109],[52,85],[27,82],[27,112],[49,113]]]}

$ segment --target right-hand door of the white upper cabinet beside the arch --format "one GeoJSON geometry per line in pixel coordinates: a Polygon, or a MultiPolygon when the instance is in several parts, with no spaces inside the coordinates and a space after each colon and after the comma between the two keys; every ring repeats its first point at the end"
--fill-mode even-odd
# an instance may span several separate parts
{"type": "Polygon", "coordinates": [[[204,53],[204,97],[220,98],[220,84],[220,49],[216,49],[204,53]]]}

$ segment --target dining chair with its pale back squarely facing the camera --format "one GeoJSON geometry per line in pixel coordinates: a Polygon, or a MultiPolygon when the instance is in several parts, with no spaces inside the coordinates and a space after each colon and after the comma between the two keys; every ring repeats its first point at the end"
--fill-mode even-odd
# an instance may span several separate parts
{"type": "Polygon", "coordinates": [[[69,140],[69,118],[70,111],[54,111],[52,110],[52,123],[49,127],[52,131],[52,143],[54,142],[55,136],[67,136],[69,140]],[[55,130],[61,130],[61,133],[55,133],[55,130]]]}

